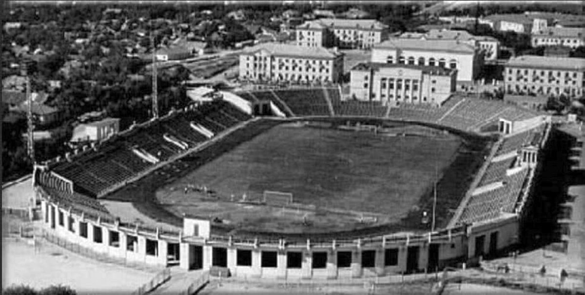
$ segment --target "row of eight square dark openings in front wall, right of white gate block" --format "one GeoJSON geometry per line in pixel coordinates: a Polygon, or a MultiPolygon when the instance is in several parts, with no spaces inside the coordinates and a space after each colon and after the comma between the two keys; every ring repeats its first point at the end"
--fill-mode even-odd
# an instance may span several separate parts
{"type": "MultiPolygon", "coordinates": [[[[227,249],[213,248],[212,251],[212,265],[227,267],[227,249]]],[[[313,252],[312,253],[312,269],[324,269],[327,267],[328,252],[313,252]]],[[[352,265],[352,252],[339,251],[336,256],[336,265],[338,268],[349,268],[352,265]]],[[[252,250],[237,249],[236,250],[236,265],[237,266],[252,266],[252,250]]],[[[398,265],[398,249],[384,250],[384,266],[398,265]]],[[[376,266],[376,251],[366,250],[362,251],[362,267],[373,268],[376,266]]],[[[260,267],[262,268],[277,268],[278,267],[278,252],[277,251],[261,251],[260,252],[260,267]]],[[[287,252],[286,268],[300,269],[302,268],[302,252],[287,252]]]]}

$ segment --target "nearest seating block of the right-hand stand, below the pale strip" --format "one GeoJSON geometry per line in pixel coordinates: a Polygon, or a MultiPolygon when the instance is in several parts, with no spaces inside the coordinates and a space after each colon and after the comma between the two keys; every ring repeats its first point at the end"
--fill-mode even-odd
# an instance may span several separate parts
{"type": "Polygon", "coordinates": [[[472,196],[463,209],[458,223],[473,223],[476,221],[494,218],[501,212],[512,213],[521,193],[528,169],[524,169],[504,179],[505,185],[480,195],[472,196]]]}

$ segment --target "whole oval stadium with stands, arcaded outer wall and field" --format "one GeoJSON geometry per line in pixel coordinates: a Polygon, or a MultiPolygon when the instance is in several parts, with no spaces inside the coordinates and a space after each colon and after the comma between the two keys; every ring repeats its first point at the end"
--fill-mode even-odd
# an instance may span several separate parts
{"type": "Polygon", "coordinates": [[[552,124],[502,102],[215,92],[35,166],[44,234],[232,276],[434,271],[522,240],[552,124]]]}

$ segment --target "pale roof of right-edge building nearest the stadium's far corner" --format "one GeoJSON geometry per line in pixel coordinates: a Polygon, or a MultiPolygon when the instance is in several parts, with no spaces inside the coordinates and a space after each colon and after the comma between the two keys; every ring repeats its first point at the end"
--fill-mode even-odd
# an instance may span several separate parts
{"type": "Polygon", "coordinates": [[[507,66],[582,71],[585,70],[585,58],[522,55],[510,58],[507,66]]]}

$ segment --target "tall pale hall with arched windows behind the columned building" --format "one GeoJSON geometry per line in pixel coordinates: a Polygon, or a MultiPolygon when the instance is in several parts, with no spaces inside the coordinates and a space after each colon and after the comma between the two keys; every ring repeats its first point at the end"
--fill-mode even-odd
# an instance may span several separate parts
{"type": "Polygon", "coordinates": [[[457,83],[474,81],[483,51],[459,40],[391,39],[374,46],[373,63],[430,65],[457,70],[457,83]]]}

